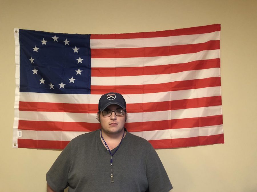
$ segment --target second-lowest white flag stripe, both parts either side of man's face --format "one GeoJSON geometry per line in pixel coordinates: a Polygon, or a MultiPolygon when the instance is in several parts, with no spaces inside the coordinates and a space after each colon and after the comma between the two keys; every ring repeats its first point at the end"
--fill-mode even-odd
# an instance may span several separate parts
{"type": "MultiPolygon", "coordinates": [[[[20,120],[26,121],[60,121],[98,123],[97,113],[68,113],[68,112],[31,112],[20,111],[20,120]]],[[[179,110],[128,113],[127,123],[143,121],[162,121],[193,117],[221,115],[221,106],[189,108],[179,110]]]]}

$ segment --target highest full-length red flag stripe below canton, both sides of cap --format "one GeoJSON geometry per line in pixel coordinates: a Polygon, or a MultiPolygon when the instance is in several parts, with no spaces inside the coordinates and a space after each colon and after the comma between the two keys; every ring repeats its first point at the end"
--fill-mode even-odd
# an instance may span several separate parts
{"type": "MultiPolygon", "coordinates": [[[[127,111],[129,113],[154,112],[218,105],[221,105],[221,96],[182,99],[164,102],[127,104],[127,111]]],[[[98,106],[97,104],[67,104],[20,101],[19,110],[42,112],[97,113],[98,106]]]]}

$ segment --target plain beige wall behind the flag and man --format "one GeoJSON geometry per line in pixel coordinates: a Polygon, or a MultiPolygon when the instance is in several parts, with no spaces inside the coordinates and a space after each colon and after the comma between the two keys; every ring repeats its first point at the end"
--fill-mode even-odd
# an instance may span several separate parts
{"type": "Polygon", "coordinates": [[[46,191],[61,151],[13,149],[13,28],[108,34],[221,24],[225,144],[157,150],[178,191],[257,191],[257,1],[0,0],[0,191],[46,191]],[[108,2],[108,3],[107,3],[108,2]]]}

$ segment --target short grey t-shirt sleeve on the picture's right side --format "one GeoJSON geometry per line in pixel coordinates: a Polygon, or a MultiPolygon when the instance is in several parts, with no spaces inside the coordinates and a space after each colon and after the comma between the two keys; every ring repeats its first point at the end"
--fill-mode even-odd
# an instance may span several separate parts
{"type": "Polygon", "coordinates": [[[154,148],[151,148],[149,151],[146,163],[146,176],[148,180],[148,190],[150,192],[167,192],[173,188],[154,148]]]}

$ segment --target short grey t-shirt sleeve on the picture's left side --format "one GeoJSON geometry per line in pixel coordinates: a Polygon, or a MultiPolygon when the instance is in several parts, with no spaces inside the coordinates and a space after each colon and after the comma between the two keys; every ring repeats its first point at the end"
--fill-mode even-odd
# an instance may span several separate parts
{"type": "Polygon", "coordinates": [[[55,191],[62,191],[68,187],[68,174],[70,170],[71,142],[63,149],[46,174],[47,184],[55,191]]]}

